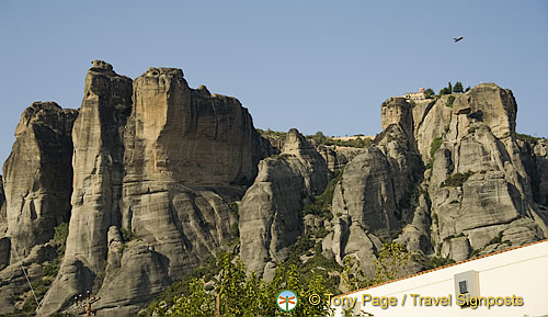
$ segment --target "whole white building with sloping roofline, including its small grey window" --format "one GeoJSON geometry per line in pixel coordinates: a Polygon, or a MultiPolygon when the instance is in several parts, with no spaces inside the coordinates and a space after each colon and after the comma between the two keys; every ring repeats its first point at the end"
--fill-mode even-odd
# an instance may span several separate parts
{"type": "Polygon", "coordinates": [[[344,316],[352,303],[375,317],[548,316],[548,240],[343,294],[331,307],[344,316]]]}

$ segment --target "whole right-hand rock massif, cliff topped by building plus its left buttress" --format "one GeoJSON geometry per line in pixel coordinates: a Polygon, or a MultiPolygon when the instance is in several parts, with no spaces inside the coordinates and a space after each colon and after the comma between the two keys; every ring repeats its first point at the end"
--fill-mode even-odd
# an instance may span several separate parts
{"type": "Polygon", "coordinates": [[[456,261],[548,236],[546,145],[516,141],[512,92],[487,83],[453,97],[383,104],[384,132],[333,196],[328,245],[340,263],[353,254],[370,270],[372,236],[456,261]]]}

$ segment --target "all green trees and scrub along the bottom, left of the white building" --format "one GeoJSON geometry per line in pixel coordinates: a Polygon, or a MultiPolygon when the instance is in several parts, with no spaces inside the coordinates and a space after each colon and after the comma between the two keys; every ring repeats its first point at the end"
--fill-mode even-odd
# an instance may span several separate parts
{"type": "MultiPolygon", "coordinates": [[[[358,261],[346,258],[340,272],[341,282],[349,290],[355,290],[392,280],[409,259],[410,253],[403,246],[387,242],[375,261],[373,280],[355,269],[359,267],[358,261]]],[[[174,283],[138,316],[330,316],[332,309],[328,298],[341,292],[327,283],[326,268],[301,269],[290,261],[282,263],[276,267],[272,281],[265,282],[255,273],[247,274],[237,256],[222,253],[216,261],[210,260],[198,268],[193,276],[174,283]],[[277,294],[283,290],[290,290],[298,297],[297,307],[289,313],[276,306],[277,294]],[[312,294],[320,296],[318,305],[310,304],[312,294]]],[[[345,316],[356,315],[347,309],[345,316]]],[[[373,315],[363,312],[358,316],[373,315]]]]}

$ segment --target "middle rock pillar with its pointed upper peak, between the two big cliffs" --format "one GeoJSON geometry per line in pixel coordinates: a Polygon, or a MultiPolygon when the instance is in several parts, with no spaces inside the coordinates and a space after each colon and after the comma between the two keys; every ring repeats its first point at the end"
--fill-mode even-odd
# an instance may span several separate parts
{"type": "Polygon", "coordinates": [[[290,129],[278,158],[259,163],[259,174],[240,204],[240,256],[249,271],[272,278],[304,233],[302,206],[323,192],[331,172],[316,148],[290,129]],[[265,269],[266,268],[266,269],[265,269]]]}

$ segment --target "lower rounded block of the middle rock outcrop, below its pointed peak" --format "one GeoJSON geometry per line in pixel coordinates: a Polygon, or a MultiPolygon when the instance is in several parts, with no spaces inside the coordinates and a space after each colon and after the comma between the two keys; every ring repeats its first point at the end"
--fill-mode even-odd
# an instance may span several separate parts
{"type": "Polygon", "coordinates": [[[286,260],[288,247],[302,234],[305,180],[292,168],[292,160],[299,165],[295,157],[262,160],[240,204],[241,259],[249,271],[261,275],[269,262],[286,260]]]}

